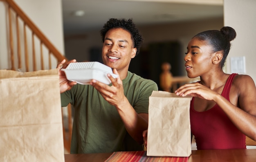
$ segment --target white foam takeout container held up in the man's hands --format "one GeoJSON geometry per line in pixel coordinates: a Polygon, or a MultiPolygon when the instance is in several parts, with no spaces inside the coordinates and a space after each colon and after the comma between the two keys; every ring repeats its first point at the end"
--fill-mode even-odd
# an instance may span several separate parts
{"type": "Polygon", "coordinates": [[[72,62],[68,64],[67,68],[61,70],[65,72],[67,80],[75,81],[79,84],[89,84],[92,79],[110,84],[111,81],[107,74],[110,74],[113,78],[118,77],[109,66],[97,61],[72,62]]]}

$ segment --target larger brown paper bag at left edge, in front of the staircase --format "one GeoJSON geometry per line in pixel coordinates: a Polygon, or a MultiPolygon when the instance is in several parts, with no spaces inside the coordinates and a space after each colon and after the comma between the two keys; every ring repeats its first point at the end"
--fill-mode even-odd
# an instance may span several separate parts
{"type": "Polygon", "coordinates": [[[0,70],[0,162],[64,162],[58,70],[0,70]]]}

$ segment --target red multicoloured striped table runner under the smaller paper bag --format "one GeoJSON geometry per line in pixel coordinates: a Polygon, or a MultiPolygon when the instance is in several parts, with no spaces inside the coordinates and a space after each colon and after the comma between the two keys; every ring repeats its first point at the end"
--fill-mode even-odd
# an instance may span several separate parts
{"type": "Polygon", "coordinates": [[[187,162],[189,157],[147,156],[146,151],[114,152],[105,162],[187,162]]]}

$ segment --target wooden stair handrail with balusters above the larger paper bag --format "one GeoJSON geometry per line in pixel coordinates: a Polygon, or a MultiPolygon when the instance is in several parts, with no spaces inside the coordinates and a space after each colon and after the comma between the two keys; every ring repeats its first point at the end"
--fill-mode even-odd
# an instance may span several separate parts
{"type": "MultiPolygon", "coordinates": [[[[14,17],[15,17],[15,25],[16,25],[16,42],[17,42],[17,59],[18,59],[18,68],[21,68],[21,41],[20,41],[20,23],[19,20],[22,20],[23,22],[23,35],[24,35],[24,49],[25,49],[25,71],[29,70],[29,56],[28,56],[28,38],[27,38],[27,31],[28,28],[31,30],[31,39],[32,39],[32,45],[30,47],[32,48],[32,60],[33,61],[33,69],[32,71],[36,71],[36,46],[35,46],[35,38],[37,37],[40,41],[40,62],[41,62],[41,69],[44,70],[44,60],[43,60],[43,47],[46,47],[49,51],[49,55],[53,55],[54,58],[57,60],[57,62],[62,61],[63,59],[66,59],[55,47],[54,45],[45,37],[45,35],[39,30],[39,28],[25,15],[25,13],[18,7],[18,5],[13,0],[1,0],[4,2],[7,2],[8,4],[8,19],[9,19],[9,42],[10,42],[10,55],[11,55],[11,70],[16,70],[15,68],[15,56],[14,56],[14,44],[13,44],[13,11],[14,11],[14,17]]],[[[51,57],[49,57],[48,63],[51,63],[51,57]]],[[[51,65],[49,65],[49,69],[52,68],[51,65]]]]}

